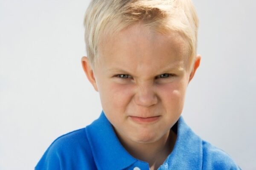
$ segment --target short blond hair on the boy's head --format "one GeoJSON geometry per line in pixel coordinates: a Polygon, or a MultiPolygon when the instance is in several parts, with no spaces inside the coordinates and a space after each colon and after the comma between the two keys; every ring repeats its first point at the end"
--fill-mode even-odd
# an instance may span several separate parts
{"type": "Polygon", "coordinates": [[[177,31],[189,42],[190,64],[197,50],[198,17],[191,0],[92,0],[84,17],[87,57],[92,65],[100,41],[134,23],[161,34],[177,31]]]}

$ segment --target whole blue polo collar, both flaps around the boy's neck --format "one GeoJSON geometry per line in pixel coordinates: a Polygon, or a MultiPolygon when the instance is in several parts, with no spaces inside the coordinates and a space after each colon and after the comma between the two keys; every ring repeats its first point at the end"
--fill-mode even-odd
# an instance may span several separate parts
{"type": "MultiPolygon", "coordinates": [[[[93,158],[101,169],[121,170],[138,161],[119,142],[103,111],[99,119],[87,126],[86,130],[93,158]]],[[[201,169],[202,153],[202,140],[180,116],[175,147],[162,166],[164,169],[201,169]]]]}

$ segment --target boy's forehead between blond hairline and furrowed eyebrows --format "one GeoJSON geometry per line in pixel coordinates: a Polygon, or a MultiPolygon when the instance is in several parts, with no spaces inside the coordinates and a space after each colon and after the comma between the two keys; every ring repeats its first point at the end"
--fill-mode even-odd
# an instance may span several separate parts
{"type": "Polygon", "coordinates": [[[99,46],[98,62],[104,67],[129,66],[136,71],[147,67],[185,66],[188,60],[186,38],[174,31],[160,34],[140,23],[115,35],[106,35],[99,46]]]}

